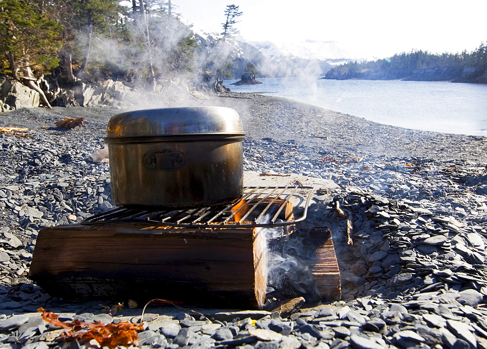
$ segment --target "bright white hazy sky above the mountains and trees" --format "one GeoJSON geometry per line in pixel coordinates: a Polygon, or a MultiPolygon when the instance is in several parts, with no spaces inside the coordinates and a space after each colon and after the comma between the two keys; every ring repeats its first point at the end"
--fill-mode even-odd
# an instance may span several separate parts
{"type": "Polygon", "coordinates": [[[411,49],[473,51],[487,41],[487,0],[172,0],[174,12],[222,32],[226,5],[240,6],[236,24],[247,40],[338,41],[357,57],[411,49]]]}

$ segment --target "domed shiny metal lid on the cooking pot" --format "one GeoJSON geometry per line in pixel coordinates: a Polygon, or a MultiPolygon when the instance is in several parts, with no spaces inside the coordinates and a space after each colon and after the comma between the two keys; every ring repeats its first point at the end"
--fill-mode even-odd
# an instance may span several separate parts
{"type": "Polygon", "coordinates": [[[114,115],[107,137],[245,132],[237,111],[225,107],[134,110],[114,115]]]}

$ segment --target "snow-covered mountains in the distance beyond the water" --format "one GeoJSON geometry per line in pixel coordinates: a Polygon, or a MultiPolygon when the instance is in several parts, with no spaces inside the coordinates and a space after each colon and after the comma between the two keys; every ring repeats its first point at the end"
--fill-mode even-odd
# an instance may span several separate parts
{"type": "Polygon", "coordinates": [[[329,62],[349,61],[356,57],[340,47],[337,41],[305,40],[298,43],[284,43],[271,41],[245,41],[257,48],[263,55],[273,58],[303,58],[317,59],[329,62]]]}

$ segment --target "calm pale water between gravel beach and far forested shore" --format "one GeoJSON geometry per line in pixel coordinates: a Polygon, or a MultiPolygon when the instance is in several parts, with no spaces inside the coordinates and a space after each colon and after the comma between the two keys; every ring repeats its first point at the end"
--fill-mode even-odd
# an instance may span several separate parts
{"type": "Polygon", "coordinates": [[[381,124],[487,136],[487,85],[423,81],[258,79],[259,85],[225,86],[265,92],[363,117],[381,124]]]}

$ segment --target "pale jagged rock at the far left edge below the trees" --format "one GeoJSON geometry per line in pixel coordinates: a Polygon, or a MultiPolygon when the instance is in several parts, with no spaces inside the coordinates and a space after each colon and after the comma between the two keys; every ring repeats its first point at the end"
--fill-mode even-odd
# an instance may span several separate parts
{"type": "Polygon", "coordinates": [[[5,76],[0,76],[0,111],[14,110],[21,107],[38,107],[39,103],[38,92],[22,85],[18,81],[12,81],[5,76]]]}

